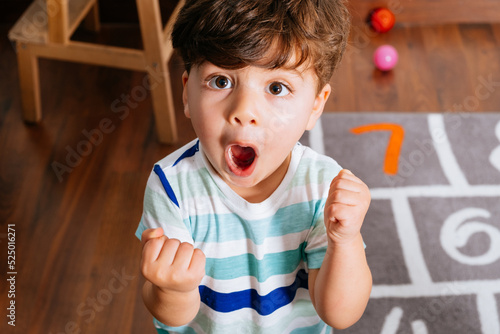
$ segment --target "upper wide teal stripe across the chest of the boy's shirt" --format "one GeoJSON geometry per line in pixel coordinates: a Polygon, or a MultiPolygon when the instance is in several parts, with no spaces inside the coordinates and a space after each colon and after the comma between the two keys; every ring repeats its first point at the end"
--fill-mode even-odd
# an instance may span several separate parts
{"type": "Polygon", "coordinates": [[[266,238],[309,230],[314,212],[321,203],[317,200],[293,204],[278,210],[265,219],[245,220],[236,214],[208,214],[191,217],[193,239],[198,242],[227,242],[250,239],[261,245],[266,238]]]}

